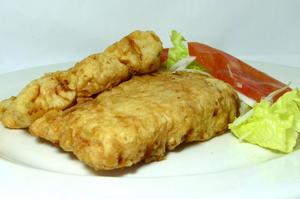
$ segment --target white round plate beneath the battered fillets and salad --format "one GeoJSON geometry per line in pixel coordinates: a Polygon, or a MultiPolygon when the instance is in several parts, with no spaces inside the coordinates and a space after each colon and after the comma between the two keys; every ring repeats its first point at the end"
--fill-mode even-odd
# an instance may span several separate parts
{"type": "MultiPolygon", "coordinates": [[[[300,86],[300,69],[249,62],[283,82],[300,86]]],[[[0,76],[0,99],[30,80],[72,63],[0,76]]],[[[241,143],[230,133],[169,152],[160,162],[121,171],[94,172],[72,155],[0,126],[0,197],[53,198],[300,198],[300,151],[282,155],[241,143]]]]}

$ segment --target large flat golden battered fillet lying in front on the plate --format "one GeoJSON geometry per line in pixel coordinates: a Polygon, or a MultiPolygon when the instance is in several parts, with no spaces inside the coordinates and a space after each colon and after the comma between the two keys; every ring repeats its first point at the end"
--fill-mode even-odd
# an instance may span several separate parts
{"type": "Polygon", "coordinates": [[[161,160],[181,143],[224,133],[239,104],[233,88],[221,80],[157,72],[133,77],[65,111],[50,111],[29,130],[95,170],[111,170],[161,160]]]}

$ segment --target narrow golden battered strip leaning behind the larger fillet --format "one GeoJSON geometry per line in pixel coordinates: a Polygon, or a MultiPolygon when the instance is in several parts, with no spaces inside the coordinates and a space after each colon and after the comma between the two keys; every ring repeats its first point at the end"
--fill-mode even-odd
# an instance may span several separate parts
{"type": "Polygon", "coordinates": [[[162,43],[153,32],[135,31],[104,52],[85,58],[69,70],[46,74],[17,97],[0,102],[0,120],[9,128],[26,128],[49,110],[64,110],[133,74],[157,70],[161,50],[162,43]]]}

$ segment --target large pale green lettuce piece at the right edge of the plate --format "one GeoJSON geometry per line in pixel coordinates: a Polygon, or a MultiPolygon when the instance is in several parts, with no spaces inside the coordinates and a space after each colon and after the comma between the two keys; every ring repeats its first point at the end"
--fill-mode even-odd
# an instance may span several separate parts
{"type": "Polygon", "coordinates": [[[236,137],[284,153],[293,151],[300,132],[299,89],[285,93],[274,104],[262,100],[251,111],[245,120],[237,118],[229,124],[236,137]]]}

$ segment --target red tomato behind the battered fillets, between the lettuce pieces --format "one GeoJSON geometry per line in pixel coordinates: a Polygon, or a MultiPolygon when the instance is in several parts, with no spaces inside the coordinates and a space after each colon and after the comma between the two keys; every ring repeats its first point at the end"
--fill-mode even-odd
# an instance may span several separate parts
{"type": "MultiPolygon", "coordinates": [[[[195,56],[197,62],[205,67],[211,75],[229,83],[237,91],[256,101],[260,101],[271,92],[286,86],[221,50],[198,42],[189,42],[188,49],[190,56],[195,56]]],[[[161,54],[161,62],[164,62],[167,57],[168,49],[164,49],[161,54]]],[[[288,88],[279,93],[274,97],[274,101],[290,90],[288,88]]]]}

